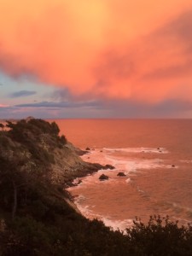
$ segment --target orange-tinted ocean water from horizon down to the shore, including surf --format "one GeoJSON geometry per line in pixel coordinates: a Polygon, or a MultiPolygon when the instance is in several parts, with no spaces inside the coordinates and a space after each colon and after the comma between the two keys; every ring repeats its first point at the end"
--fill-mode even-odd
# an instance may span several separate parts
{"type": "MultiPolygon", "coordinates": [[[[192,223],[191,119],[59,119],[61,134],[85,161],[111,164],[68,190],[87,218],[124,230],[137,216],[192,223]],[[118,177],[124,172],[125,177],[118,177]],[[109,179],[100,181],[104,173],[109,179]]],[[[75,182],[75,181],[74,181],[75,182]]]]}

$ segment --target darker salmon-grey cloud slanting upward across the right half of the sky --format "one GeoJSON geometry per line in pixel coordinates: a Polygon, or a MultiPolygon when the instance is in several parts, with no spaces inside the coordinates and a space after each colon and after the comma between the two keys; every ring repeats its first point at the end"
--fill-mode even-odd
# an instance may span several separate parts
{"type": "Polygon", "coordinates": [[[101,55],[95,72],[100,95],[151,104],[173,95],[192,101],[191,17],[189,9],[132,44],[101,55]]]}

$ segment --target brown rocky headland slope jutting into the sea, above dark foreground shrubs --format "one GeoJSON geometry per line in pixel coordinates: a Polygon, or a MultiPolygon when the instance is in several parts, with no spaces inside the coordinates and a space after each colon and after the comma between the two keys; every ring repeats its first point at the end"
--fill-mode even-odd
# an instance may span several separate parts
{"type": "Polygon", "coordinates": [[[44,172],[51,183],[67,186],[73,178],[102,168],[99,164],[84,162],[79,157],[83,151],[68,143],[64,136],[60,137],[55,123],[28,119],[15,124],[9,122],[8,126],[9,131],[0,133],[0,157],[7,161],[22,160],[23,170],[29,163],[32,172],[42,169],[40,172],[44,172]]]}

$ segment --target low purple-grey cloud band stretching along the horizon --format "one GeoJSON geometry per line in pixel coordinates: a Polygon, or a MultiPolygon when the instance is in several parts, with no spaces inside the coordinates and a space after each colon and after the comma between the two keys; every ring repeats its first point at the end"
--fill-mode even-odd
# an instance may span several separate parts
{"type": "Polygon", "coordinates": [[[189,118],[192,102],[169,99],[155,105],[114,100],[101,102],[36,102],[0,107],[0,119],[25,118],[189,118]],[[77,111],[74,111],[78,109],[77,111]]]}

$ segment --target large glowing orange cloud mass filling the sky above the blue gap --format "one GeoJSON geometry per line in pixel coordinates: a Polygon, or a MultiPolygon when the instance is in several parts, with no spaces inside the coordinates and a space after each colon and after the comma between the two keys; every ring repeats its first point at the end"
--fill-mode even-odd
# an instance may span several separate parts
{"type": "Polygon", "coordinates": [[[4,73],[84,98],[192,102],[191,0],[0,0],[0,9],[4,73]]]}

